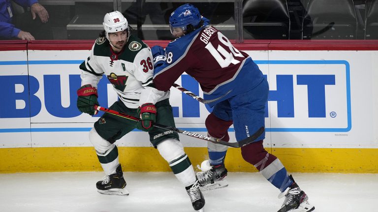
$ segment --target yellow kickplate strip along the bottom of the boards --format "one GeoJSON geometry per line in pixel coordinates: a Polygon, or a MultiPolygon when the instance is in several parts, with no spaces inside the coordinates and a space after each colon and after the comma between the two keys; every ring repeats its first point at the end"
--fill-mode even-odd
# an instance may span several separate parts
{"type": "MultiPolygon", "coordinates": [[[[378,149],[267,148],[289,172],[378,173],[378,149]]],[[[118,147],[123,170],[171,171],[153,147],[118,147]]],[[[208,159],[207,148],[186,147],[196,169],[208,159]]],[[[0,173],[102,171],[93,147],[3,148],[0,173]]],[[[256,172],[244,161],[240,148],[229,148],[225,165],[230,172],[256,172]]]]}

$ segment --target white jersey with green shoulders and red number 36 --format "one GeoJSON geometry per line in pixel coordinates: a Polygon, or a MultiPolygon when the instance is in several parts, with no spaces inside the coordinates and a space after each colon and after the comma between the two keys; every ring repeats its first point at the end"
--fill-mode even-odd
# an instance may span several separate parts
{"type": "MultiPolygon", "coordinates": [[[[81,85],[97,87],[105,75],[120,100],[129,108],[144,103],[156,104],[169,98],[168,92],[153,87],[154,64],[150,48],[140,39],[130,36],[120,53],[113,52],[109,41],[99,37],[89,56],[81,65],[81,85]]],[[[101,95],[100,93],[98,95],[101,95]]]]}

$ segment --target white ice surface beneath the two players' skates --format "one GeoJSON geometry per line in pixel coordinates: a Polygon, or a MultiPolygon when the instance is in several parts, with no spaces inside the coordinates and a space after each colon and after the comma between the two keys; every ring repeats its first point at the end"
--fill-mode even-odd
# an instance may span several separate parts
{"type": "MultiPolygon", "coordinates": [[[[378,212],[378,174],[292,173],[315,212],[378,212]]],[[[0,174],[1,212],[194,212],[170,172],[125,172],[129,196],[99,194],[102,172],[0,174]]],[[[205,212],[277,212],[283,199],[259,173],[228,173],[204,192],[205,212]]]]}

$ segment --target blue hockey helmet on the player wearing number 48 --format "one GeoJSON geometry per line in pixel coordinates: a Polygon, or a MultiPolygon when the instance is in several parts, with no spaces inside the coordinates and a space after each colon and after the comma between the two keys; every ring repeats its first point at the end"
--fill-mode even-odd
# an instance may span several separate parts
{"type": "Polygon", "coordinates": [[[197,28],[200,22],[201,14],[198,8],[189,3],[179,6],[169,17],[171,32],[174,27],[180,27],[186,33],[188,25],[197,28]]]}

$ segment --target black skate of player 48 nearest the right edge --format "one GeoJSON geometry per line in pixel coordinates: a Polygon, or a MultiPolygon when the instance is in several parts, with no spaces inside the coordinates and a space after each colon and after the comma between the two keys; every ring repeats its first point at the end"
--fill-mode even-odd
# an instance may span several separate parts
{"type": "MultiPolygon", "coordinates": [[[[293,177],[291,175],[289,177],[294,182],[293,177]]],[[[315,210],[315,207],[308,202],[309,197],[295,182],[278,196],[278,198],[282,197],[285,197],[284,204],[278,212],[312,212],[315,210]]]]}

